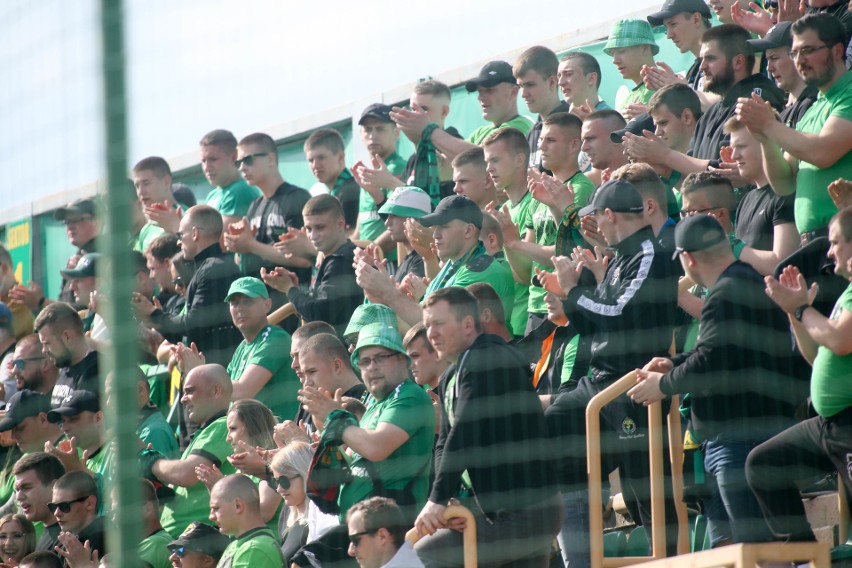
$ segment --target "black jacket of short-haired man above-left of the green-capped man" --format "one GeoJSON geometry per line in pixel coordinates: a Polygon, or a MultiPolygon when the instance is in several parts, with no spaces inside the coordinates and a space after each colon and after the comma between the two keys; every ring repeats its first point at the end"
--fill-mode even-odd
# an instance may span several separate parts
{"type": "Polygon", "coordinates": [[[208,363],[227,367],[242,335],[231,321],[225,296],[240,270],[230,254],[212,244],[196,255],[195,275],[186,288],[186,313],[167,314],[156,310],[151,321],[161,333],[186,337],[194,342],[208,363]]]}

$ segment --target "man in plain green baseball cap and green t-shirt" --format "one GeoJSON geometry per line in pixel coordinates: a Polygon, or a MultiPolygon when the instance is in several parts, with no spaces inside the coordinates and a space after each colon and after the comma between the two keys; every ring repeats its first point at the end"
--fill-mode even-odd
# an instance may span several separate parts
{"type": "Polygon", "coordinates": [[[231,399],[257,399],[279,419],[289,420],[299,408],[299,378],[290,366],[290,334],[266,319],[272,306],[266,285],[251,276],[238,278],[225,301],[243,336],[228,364],[231,399]]]}

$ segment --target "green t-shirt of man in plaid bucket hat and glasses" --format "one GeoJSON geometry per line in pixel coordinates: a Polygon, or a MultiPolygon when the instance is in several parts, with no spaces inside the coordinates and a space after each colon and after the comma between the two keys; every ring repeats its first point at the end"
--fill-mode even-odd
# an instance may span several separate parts
{"type": "MultiPolygon", "coordinates": [[[[406,379],[382,400],[367,399],[367,411],[360,426],[375,430],[382,422],[405,430],[408,440],[380,462],[373,462],[376,475],[386,489],[404,489],[417,476],[412,488],[417,510],[426,503],[429,491],[429,466],[435,442],[435,412],[432,399],[411,379],[406,379]]],[[[352,481],[340,491],[340,517],[359,501],[373,495],[373,482],[364,468],[364,459],[353,455],[350,468],[352,481]]]]}

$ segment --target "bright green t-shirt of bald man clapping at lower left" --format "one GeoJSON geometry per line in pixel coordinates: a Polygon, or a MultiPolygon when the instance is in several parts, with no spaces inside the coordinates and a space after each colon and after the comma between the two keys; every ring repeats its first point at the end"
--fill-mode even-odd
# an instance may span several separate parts
{"type": "MultiPolygon", "coordinates": [[[[224,475],[236,473],[226,458],[234,449],[225,441],[228,434],[226,419],[221,416],[195,433],[181,459],[191,455],[212,461],[224,475]]],[[[210,524],[210,494],[200,481],[191,487],[175,486],[174,498],[163,505],[160,523],[169,534],[180,534],[193,521],[210,524]]]]}

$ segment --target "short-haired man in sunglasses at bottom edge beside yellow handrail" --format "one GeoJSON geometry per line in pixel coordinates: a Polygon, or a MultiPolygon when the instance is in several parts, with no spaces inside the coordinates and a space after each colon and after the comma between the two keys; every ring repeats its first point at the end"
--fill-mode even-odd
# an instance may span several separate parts
{"type": "Polygon", "coordinates": [[[405,541],[407,523],[396,503],[371,497],[349,509],[349,556],[361,568],[422,568],[411,544],[405,541]]]}

